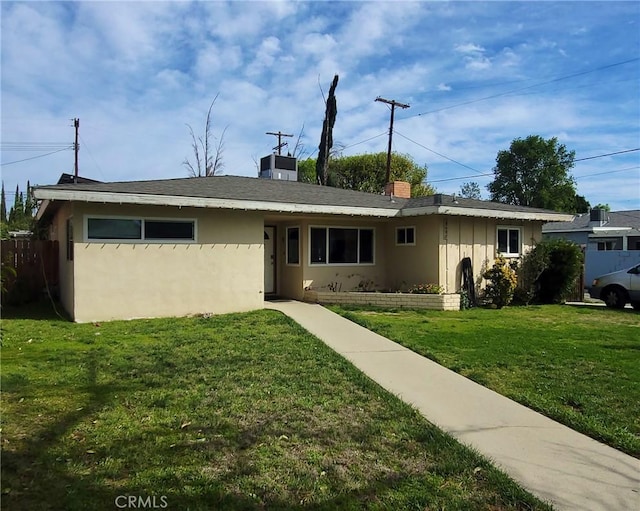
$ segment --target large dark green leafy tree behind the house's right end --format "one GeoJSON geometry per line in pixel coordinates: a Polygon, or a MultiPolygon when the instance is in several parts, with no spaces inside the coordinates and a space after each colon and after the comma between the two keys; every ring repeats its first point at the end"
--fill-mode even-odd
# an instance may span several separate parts
{"type": "Polygon", "coordinates": [[[515,139],[508,151],[498,152],[495,178],[487,186],[491,200],[575,212],[575,181],[569,174],[574,158],[575,151],[568,151],[555,137],[515,139]]]}

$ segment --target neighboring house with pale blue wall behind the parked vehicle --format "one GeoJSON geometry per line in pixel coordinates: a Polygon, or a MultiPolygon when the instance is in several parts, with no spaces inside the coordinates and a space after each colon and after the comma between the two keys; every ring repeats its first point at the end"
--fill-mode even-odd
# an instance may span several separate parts
{"type": "Polygon", "coordinates": [[[571,222],[551,222],[542,228],[546,239],[562,238],[580,245],[585,254],[584,283],[640,263],[640,210],[592,209],[571,222]]]}

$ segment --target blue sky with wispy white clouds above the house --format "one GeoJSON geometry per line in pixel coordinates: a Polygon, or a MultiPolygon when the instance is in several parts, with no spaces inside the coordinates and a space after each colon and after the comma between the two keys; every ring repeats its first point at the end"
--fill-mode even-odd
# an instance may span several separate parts
{"type": "MultiPolygon", "coordinates": [[[[394,150],[438,191],[491,181],[515,138],[575,150],[578,193],[640,209],[639,2],[2,2],[2,179],[186,177],[211,100],[223,173],[294,133],[315,156],[334,76],[343,154],[394,150]],[[47,156],[45,156],[47,155],[47,156]],[[19,161],[25,160],[26,161],[19,161]],[[584,159],[590,158],[590,159],[584,159]],[[17,163],[13,163],[17,162],[17,163]]],[[[295,139],[290,139],[293,145],[295,139]]]]}

